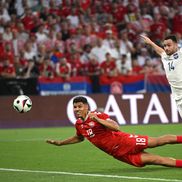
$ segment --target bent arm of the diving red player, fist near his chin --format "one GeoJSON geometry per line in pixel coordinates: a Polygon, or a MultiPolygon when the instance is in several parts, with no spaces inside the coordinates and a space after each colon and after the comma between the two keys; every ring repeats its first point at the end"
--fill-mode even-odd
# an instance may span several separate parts
{"type": "Polygon", "coordinates": [[[89,113],[88,116],[113,131],[119,131],[118,123],[110,118],[108,120],[101,119],[95,113],[89,113]]]}

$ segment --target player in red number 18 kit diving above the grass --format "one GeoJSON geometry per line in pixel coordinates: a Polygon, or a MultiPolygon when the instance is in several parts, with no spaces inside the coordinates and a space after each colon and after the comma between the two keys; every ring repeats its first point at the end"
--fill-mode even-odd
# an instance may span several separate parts
{"type": "Polygon", "coordinates": [[[79,143],[86,138],[114,158],[136,167],[145,165],[182,167],[182,160],[145,152],[147,148],[182,143],[182,136],[149,137],[122,132],[117,122],[110,119],[107,114],[89,111],[87,99],[83,96],[74,98],[73,107],[77,117],[76,135],[65,140],[47,140],[47,143],[62,146],[79,143]]]}

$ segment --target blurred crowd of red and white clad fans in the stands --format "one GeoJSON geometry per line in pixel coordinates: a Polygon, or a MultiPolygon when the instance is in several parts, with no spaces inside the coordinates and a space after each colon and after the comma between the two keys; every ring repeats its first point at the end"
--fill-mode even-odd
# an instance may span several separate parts
{"type": "Polygon", "coordinates": [[[182,45],[181,0],[1,0],[0,76],[164,74],[139,35],[169,33],[182,45]]]}

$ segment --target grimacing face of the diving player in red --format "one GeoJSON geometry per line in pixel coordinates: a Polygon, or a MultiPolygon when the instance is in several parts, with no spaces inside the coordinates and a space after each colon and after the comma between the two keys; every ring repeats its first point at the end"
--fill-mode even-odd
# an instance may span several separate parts
{"type": "Polygon", "coordinates": [[[73,110],[77,118],[84,119],[88,113],[88,105],[82,102],[73,104],[73,110]]]}

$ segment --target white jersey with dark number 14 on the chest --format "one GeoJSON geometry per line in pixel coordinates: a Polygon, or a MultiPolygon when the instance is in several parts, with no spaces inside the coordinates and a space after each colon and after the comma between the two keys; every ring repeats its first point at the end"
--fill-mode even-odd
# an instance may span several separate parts
{"type": "Polygon", "coordinates": [[[177,104],[182,104],[182,48],[172,55],[161,55],[166,77],[177,104]]]}

